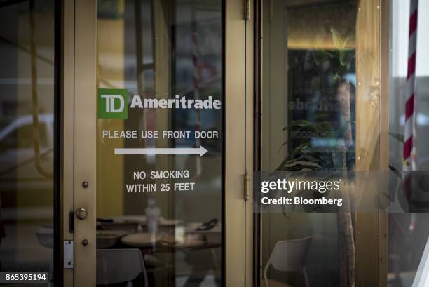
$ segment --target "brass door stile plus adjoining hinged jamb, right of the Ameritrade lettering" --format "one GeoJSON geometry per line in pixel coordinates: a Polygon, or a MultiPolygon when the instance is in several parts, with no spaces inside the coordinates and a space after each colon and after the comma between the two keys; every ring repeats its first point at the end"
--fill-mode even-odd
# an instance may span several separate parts
{"type": "Polygon", "coordinates": [[[243,2],[225,0],[226,286],[253,286],[254,283],[251,180],[254,150],[254,3],[249,1],[250,18],[245,20],[243,2]],[[243,175],[249,176],[247,187],[243,175]],[[238,240],[240,238],[243,240],[238,240]]]}

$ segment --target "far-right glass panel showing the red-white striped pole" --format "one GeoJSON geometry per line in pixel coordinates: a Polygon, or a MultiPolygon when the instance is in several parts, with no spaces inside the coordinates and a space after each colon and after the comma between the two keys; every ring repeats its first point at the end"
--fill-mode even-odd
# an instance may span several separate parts
{"type": "MultiPolygon", "coordinates": [[[[409,91],[414,91],[415,123],[415,166],[414,172],[404,175],[411,176],[411,182],[427,177],[429,170],[429,57],[427,53],[429,19],[425,14],[429,12],[427,1],[420,1],[418,5],[418,23],[416,38],[416,70],[415,83],[409,90],[407,79],[409,58],[409,19],[410,1],[390,0],[390,105],[389,105],[389,166],[391,169],[402,171],[404,154],[404,126],[406,125],[405,107],[409,98],[409,91]],[[398,156],[399,155],[399,156],[398,156]]],[[[412,47],[412,45],[411,45],[412,47]]],[[[407,122],[412,121],[412,117],[407,122]]],[[[410,169],[411,169],[410,168],[410,169]]],[[[427,270],[425,264],[428,260],[428,201],[427,182],[413,185],[409,194],[404,194],[402,178],[394,173],[390,175],[390,189],[397,192],[400,201],[406,195],[409,213],[389,214],[389,240],[388,240],[388,286],[391,287],[422,287],[427,286],[427,270]],[[423,192],[421,192],[423,191],[423,192]],[[425,251],[425,252],[424,252],[425,251]],[[417,276],[421,269],[423,273],[417,276]],[[423,281],[418,282],[418,279],[423,281]]]]}

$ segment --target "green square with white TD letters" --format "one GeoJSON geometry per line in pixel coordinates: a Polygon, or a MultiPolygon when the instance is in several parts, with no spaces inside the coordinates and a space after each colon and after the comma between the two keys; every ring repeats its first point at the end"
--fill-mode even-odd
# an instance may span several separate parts
{"type": "Polygon", "coordinates": [[[125,88],[98,89],[98,119],[127,119],[128,91],[125,88]]]}

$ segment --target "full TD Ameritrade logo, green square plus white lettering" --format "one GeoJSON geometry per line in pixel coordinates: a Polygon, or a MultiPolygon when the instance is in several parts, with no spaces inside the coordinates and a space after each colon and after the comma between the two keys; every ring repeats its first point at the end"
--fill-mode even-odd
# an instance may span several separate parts
{"type": "MultiPolygon", "coordinates": [[[[185,98],[175,95],[174,98],[141,98],[132,96],[130,109],[221,109],[221,100],[210,95],[204,99],[185,98]]],[[[98,89],[98,118],[127,119],[128,92],[126,89],[98,89]]]]}

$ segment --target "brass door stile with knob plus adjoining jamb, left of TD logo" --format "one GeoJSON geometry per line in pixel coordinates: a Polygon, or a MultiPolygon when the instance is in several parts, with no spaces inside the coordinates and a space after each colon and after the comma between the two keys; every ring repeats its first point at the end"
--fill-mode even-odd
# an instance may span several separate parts
{"type": "Polygon", "coordinates": [[[74,241],[74,268],[63,269],[67,287],[95,286],[96,17],[96,1],[62,1],[61,222],[62,241],[74,241]],[[76,208],[89,212],[71,218],[71,233],[76,208]]]}

